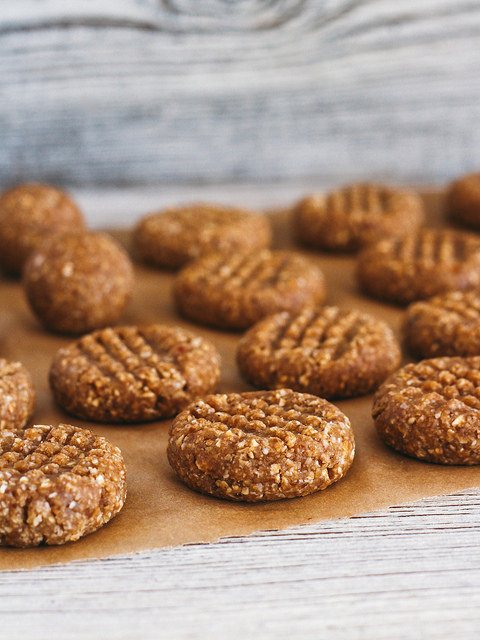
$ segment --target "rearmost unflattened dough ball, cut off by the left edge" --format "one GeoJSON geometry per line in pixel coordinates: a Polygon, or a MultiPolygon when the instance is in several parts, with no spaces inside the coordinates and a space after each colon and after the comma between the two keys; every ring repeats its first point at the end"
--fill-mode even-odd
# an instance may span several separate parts
{"type": "Polygon", "coordinates": [[[0,195],[0,266],[19,275],[25,260],[52,233],[85,226],[64,191],[46,184],[20,184],[0,195]]]}

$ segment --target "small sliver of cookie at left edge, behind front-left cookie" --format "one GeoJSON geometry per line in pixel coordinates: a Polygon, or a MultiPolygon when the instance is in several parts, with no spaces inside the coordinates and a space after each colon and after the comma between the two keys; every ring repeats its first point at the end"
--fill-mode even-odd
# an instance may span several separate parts
{"type": "Polygon", "coordinates": [[[32,378],[20,362],[0,358],[0,431],[22,429],[33,414],[32,378]]]}

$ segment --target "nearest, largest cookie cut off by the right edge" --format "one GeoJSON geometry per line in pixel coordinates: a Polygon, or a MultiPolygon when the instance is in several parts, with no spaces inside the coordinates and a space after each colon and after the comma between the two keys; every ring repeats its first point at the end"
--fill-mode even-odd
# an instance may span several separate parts
{"type": "Polygon", "coordinates": [[[480,357],[407,365],[378,389],[372,415],[393,449],[440,464],[479,464],[480,357]]]}

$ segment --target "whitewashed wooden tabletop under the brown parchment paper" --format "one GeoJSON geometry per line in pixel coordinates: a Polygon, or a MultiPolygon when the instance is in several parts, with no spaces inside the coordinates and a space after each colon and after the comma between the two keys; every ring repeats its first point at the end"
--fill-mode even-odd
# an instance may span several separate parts
{"type": "MultiPolygon", "coordinates": [[[[76,195],[96,225],[313,185],[76,195]],[[107,215],[108,214],[108,215],[107,215]]],[[[480,492],[280,532],[0,573],[0,638],[478,638],[480,492]]]]}

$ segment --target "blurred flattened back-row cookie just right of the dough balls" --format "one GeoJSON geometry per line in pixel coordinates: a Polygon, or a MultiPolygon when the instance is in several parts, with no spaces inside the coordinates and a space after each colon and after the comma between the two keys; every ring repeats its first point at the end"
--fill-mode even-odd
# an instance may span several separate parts
{"type": "Polygon", "coordinates": [[[211,250],[264,249],[271,236],[266,216],[215,204],[191,204],[142,218],[133,231],[133,246],[144,262],[175,269],[211,250]]]}

